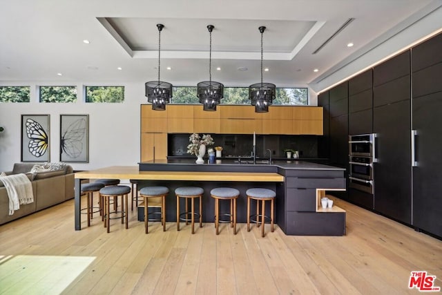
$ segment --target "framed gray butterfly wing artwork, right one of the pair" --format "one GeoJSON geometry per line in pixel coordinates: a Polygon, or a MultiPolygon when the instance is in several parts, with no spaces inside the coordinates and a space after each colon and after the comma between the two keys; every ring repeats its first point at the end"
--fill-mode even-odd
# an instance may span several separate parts
{"type": "Polygon", "coordinates": [[[60,115],[60,162],[89,162],[89,115],[60,115]]]}

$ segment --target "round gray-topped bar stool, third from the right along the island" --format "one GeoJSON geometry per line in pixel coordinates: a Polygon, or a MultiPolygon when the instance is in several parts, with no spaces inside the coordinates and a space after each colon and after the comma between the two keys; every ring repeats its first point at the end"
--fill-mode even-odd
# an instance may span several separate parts
{"type": "Polygon", "coordinates": [[[177,196],[177,231],[180,230],[180,220],[186,222],[186,225],[189,225],[189,220],[191,220],[192,225],[192,234],[195,234],[195,216],[200,219],[200,227],[202,227],[202,194],[204,193],[204,189],[200,187],[178,187],[175,189],[175,195],[177,196]],[[180,198],[184,198],[186,201],[186,211],[184,213],[180,213],[180,198]],[[200,211],[195,212],[195,199],[199,198],[200,200],[200,211]],[[189,211],[189,205],[187,200],[191,199],[191,211],[189,211]],[[191,218],[189,218],[189,214],[191,218]],[[180,217],[184,216],[184,218],[180,217]]]}

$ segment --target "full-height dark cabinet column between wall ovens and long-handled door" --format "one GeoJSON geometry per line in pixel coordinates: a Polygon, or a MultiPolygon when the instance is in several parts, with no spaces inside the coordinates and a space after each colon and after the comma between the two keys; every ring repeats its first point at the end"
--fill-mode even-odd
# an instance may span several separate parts
{"type": "Polygon", "coordinates": [[[412,223],[410,50],[373,70],[374,210],[412,223]]]}

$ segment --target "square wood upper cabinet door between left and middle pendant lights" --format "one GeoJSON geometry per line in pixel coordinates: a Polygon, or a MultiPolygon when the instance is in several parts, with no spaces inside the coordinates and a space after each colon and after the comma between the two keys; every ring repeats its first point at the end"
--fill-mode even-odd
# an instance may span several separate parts
{"type": "Polygon", "coordinates": [[[193,106],[168,105],[166,112],[168,133],[193,133],[193,106]]]}

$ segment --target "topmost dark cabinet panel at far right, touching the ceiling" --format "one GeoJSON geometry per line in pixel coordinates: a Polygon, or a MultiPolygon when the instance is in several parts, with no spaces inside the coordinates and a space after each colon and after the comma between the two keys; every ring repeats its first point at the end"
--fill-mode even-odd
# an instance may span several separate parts
{"type": "Polygon", "coordinates": [[[442,33],[412,48],[412,59],[413,72],[442,62],[442,33]]]}

